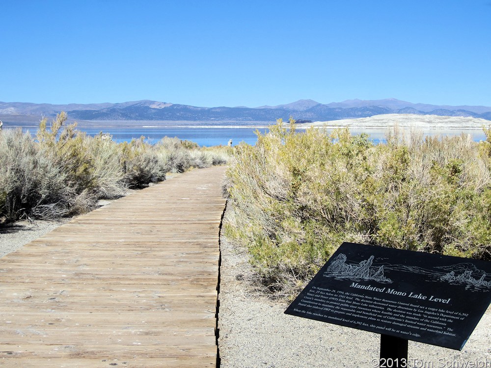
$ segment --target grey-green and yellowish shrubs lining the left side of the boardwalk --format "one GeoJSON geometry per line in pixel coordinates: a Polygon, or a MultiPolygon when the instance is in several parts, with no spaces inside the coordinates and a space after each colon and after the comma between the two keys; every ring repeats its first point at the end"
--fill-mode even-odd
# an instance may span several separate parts
{"type": "Polygon", "coordinates": [[[184,172],[226,162],[225,148],[215,151],[165,137],[156,145],[144,138],[116,143],[65,125],[61,112],[50,127],[43,119],[36,139],[19,130],[0,131],[0,218],[58,218],[97,207],[128,188],[165,180],[166,172],[184,172]]]}

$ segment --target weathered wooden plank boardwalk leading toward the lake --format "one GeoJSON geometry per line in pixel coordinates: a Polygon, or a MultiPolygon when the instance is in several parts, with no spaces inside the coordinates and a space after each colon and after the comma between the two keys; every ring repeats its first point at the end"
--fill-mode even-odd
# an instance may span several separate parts
{"type": "Polygon", "coordinates": [[[0,259],[3,367],[215,367],[224,167],[80,216],[0,259]]]}

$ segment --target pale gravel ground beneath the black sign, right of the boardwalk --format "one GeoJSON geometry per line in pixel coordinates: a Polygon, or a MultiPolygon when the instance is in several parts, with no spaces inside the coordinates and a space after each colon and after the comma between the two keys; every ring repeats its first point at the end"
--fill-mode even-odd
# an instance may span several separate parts
{"type": "MultiPolygon", "coordinates": [[[[220,242],[221,368],[377,367],[380,335],[285,315],[288,302],[272,301],[249,286],[252,271],[244,250],[223,236],[220,242]]],[[[490,328],[491,308],[462,351],[409,342],[409,367],[465,367],[471,362],[467,367],[491,368],[490,328]]]]}

